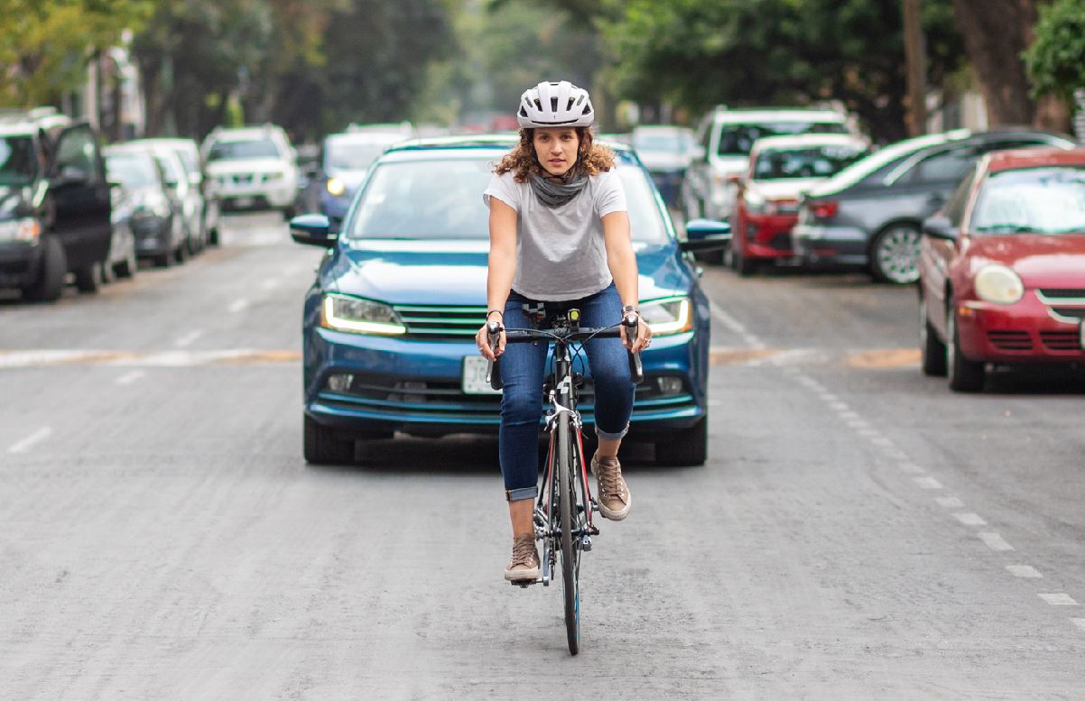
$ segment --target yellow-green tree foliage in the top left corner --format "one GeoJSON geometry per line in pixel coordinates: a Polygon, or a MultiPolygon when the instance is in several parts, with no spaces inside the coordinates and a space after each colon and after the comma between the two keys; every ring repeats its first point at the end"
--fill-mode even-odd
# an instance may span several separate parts
{"type": "Polygon", "coordinates": [[[138,30],[153,0],[0,0],[0,104],[56,103],[95,52],[138,30]]]}

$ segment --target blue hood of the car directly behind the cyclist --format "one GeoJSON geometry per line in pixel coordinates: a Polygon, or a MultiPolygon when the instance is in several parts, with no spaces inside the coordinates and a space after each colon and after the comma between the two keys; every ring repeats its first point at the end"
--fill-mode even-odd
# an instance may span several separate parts
{"type": "MultiPolygon", "coordinates": [[[[634,244],[641,299],[688,292],[674,245],[634,244]]],[[[485,240],[344,242],[326,286],[388,304],[485,306],[488,251],[485,240]]]]}

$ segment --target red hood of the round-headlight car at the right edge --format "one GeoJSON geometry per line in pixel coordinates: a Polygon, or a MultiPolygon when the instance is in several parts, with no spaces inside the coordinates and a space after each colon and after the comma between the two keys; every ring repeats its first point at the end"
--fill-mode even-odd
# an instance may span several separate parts
{"type": "Polygon", "coordinates": [[[968,241],[973,273],[987,263],[1000,263],[1013,268],[1026,288],[1085,286],[1085,233],[970,237],[968,241]]]}

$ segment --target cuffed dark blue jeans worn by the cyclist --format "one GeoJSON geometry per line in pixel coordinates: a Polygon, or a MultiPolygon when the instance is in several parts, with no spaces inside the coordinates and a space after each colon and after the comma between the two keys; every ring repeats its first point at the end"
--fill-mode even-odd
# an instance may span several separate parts
{"type": "MultiPolygon", "coordinates": [[[[531,329],[523,305],[535,303],[511,292],[505,303],[506,329],[531,329]]],[[[545,302],[548,328],[553,315],[572,308],[580,310],[580,326],[609,327],[622,318],[622,301],[614,284],[583,299],[545,302]]],[[[575,349],[575,346],[574,346],[575,349]]],[[[617,441],[629,430],[634,384],[629,377],[629,352],[620,339],[592,339],[584,344],[595,383],[596,434],[617,441]]],[[[575,354],[574,354],[575,356],[575,354]]],[[[547,370],[546,343],[510,343],[501,356],[501,430],[499,453],[501,474],[510,501],[534,499],[538,495],[538,431],[542,413],[542,378],[547,370]]],[[[583,356],[582,356],[583,358],[583,356]]],[[[573,369],[583,372],[583,360],[574,358],[573,369]]]]}

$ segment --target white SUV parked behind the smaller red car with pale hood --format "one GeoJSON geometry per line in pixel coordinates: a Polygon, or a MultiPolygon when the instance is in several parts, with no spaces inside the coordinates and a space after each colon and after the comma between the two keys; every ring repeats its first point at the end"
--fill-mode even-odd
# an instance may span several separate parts
{"type": "Polygon", "coordinates": [[[736,187],[728,176],[749,167],[757,139],[799,133],[850,133],[847,117],[832,110],[728,110],[716,107],[697,129],[693,160],[682,181],[687,219],[728,220],[736,187]]]}

